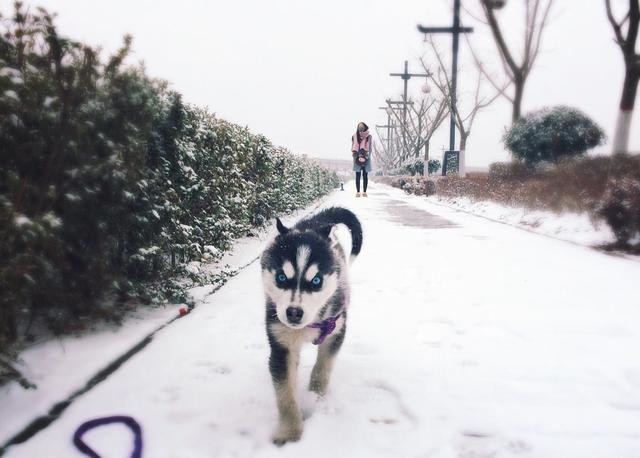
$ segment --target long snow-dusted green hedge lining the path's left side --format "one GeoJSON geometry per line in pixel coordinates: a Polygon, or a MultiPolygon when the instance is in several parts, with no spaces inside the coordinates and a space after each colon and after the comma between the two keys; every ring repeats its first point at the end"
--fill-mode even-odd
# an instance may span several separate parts
{"type": "Polygon", "coordinates": [[[105,59],[45,10],[1,19],[0,349],[19,323],[182,300],[186,266],[338,184],[126,66],[130,37],[105,59]]]}

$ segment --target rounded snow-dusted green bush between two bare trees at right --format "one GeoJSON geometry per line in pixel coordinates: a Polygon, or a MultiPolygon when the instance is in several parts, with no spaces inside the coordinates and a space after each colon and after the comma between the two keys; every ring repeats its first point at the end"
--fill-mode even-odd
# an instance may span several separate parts
{"type": "Polygon", "coordinates": [[[526,115],[516,121],[503,138],[507,149],[529,164],[581,155],[604,140],[603,130],[594,121],[566,106],[526,115]]]}

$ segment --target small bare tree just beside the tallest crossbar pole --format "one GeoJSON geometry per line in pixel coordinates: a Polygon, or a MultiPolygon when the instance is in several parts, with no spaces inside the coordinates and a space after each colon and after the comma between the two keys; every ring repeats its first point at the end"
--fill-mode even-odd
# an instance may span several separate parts
{"type": "MultiPolygon", "coordinates": [[[[438,50],[433,38],[428,40],[431,49],[433,51],[433,55],[435,57],[435,61],[437,63],[438,69],[433,72],[430,71],[431,81],[438,88],[443,97],[449,101],[451,97],[451,76],[447,72],[447,67],[442,58],[442,54],[438,50]]],[[[425,70],[429,71],[428,65],[425,60],[422,59],[422,65],[425,70]]],[[[472,103],[469,104],[466,110],[460,108],[461,97],[458,98],[456,104],[453,106],[456,127],[458,128],[458,132],[460,133],[460,157],[458,164],[458,173],[460,176],[466,175],[466,149],[467,149],[467,140],[471,135],[471,128],[473,127],[473,123],[476,120],[476,116],[483,108],[491,105],[500,95],[504,94],[506,89],[505,86],[499,86],[496,88],[495,93],[493,95],[487,96],[482,94],[482,82],[486,79],[484,73],[478,68],[476,74],[476,84],[475,84],[475,93],[472,99],[472,103]]],[[[506,83],[509,84],[509,83],[506,83]]],[[[443,164],[444,167],[444,164],[443,164]]]]}

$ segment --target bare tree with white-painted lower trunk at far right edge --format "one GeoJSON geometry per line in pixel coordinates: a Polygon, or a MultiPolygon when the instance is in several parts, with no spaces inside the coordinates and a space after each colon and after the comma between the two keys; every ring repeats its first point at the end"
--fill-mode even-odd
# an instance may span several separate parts
{"type": "Polygon", "coordinates": [[[607,17],[616,36],[616,43],[620,46],[624,58],[625,73],[620,97],[620,112],[613,137],[613,152],[624,154],[629,150],[631,118],[640,81],[640,55],[635,49],[640,25],[640,0],[629,0],[629,11],[620,21],[614,17],[611,0],[605,0],[605,5],[607,17]],[[624,28],[626,30],[623,30],[624,28]]]}

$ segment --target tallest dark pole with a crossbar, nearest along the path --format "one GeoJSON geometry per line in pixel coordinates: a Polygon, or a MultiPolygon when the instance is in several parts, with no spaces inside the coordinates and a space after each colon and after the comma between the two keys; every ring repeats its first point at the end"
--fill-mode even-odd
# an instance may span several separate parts
{"type": "MultiPolygon", "coordinates": [[[[456,147],[456,106],[457,95],[456,87],[458,83],[458,47],[461,33],[473,32],[473,27],[460,27],[460,0],[453,0],[453,26],[452,27],[424,27],[418,25],[418,31],[420,33],[450,33],[453,37],[453,58],[451,59],[451,121],[449,125],[449,151],[445,152],[442,159],[442,174],[447,174],[447,160],[449,156],[456,156],[459,152],[455,150],[456,147]]],[[[464,164],[460,163],[458,158],[458,168],[461,174],[464,175],[464,164]]]]}

